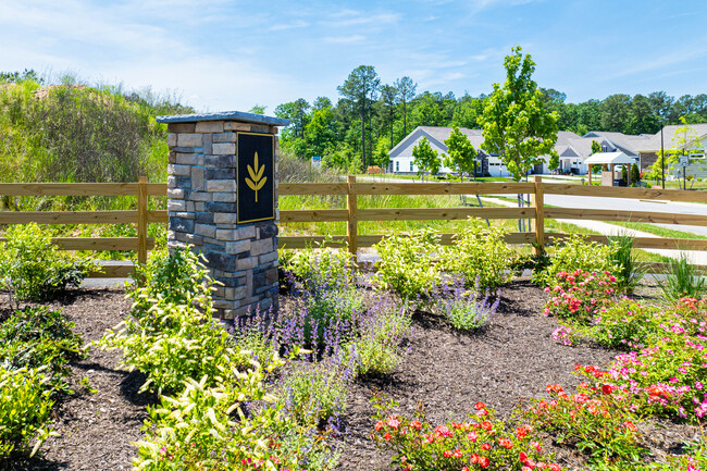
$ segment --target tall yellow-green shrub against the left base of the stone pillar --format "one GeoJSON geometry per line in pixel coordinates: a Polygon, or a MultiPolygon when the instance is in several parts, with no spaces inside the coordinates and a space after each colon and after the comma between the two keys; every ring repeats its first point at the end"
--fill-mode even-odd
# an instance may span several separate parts
{"type": "Polygon", "coordinates": [[[178,392],[186,380],[202,376],[215,385],[235,351],[227,332],[212,319],[212,281],[199,257],[187,249],[166,257],[157,251],[138,276],[146,282],[128,293],[131,317],[100,344],[121,348],[123,365],[148,375],[142,389],[178,392]]]}

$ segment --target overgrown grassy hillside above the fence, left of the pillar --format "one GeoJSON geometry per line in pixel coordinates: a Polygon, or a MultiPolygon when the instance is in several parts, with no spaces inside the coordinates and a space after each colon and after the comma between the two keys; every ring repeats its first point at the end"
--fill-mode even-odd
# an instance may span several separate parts
{"type": "Polygon", "coordinates": [[[194,112],[149,90],[45,85],[34,71],[0,73],[0,181],[136,182],[166,178],[166,126],[194,112]]]}

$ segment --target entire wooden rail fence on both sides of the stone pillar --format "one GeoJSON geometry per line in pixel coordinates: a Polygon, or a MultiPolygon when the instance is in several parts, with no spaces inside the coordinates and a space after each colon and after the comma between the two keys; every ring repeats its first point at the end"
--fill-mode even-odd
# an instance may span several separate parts
{"type": "MultiPolygon", "coordinates": [[[[384,234],[359,235],[359,221],[420,221],[420,220],[466,220],[481,218],[533,220],[533,230],[506,234],[506,241],[514,245],[530,244],[543,250],[546,245],[561,243],[568,237],[562,233],[546,233],[546,219],[646,222],[662,224],[687,224],[707,226],[707,215],[660,213],[648,211],[600,210],[593,208],[551,208],[544,203],[544,195],[568,195],[587,197],[611,197],[627,199],[691,201],[707,203],[707,191],[679,189],[622,188],[583,186],[561,183],[546,183],[539,176],[526,183],[407,183],[407,182],[357,182],[349,176],[344,183],[281,183],[281,196],[326,196],[346,197],[346,209],[306,209],[280,211],[281,224],[310,222],[346,222],[346,235],[281,236],[280,247],[305,248],[326,243],[331,246],[347,246],[352,253],[360,247],[379,243],[384,234]],[[531,196],[531,206],[522,208],[358,208],[358,198],[372,195],[517,195],[531,196]]],[[[128,211],[0,211],[0,224],[135,224],[137,237],[57,237],[54,244],[63,250],[135,250],[137,261],[147,260],[147,252],[154,246],[154,239],[147,236],[148,224],[168,223],[164,210],[148,210],[150,196],[166,195],[166,184],[147,183],[10,183],[0,184],[0,196],[136,196],[137,209],[128,211]]],[[[441,243],[454,243],[455,234],[441,234],[441,243]]],[[[587,235],[591,240],[607,243],[609,237],[587,235]]],[[[2,240],[0,238],[0,240],[2,240]]],[[[669,237],[635,237],[635,248],[707,250],[705,239],[682,239],[669,237]]],[[[660,264],[654,264],[660,269],[660,264]]],[[[132,265],[108,265],[100,277],[127,276],[132,265]]]]}

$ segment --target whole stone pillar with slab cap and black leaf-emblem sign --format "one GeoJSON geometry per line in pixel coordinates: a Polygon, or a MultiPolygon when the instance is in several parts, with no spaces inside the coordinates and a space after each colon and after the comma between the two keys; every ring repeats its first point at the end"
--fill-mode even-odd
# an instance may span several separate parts
{"type": "Polygon", "coordinates": [[[168,245],[203,253],[216,314],[277,309],[277,126],[231,111],[158,116],[169,128],[168,245]]]}

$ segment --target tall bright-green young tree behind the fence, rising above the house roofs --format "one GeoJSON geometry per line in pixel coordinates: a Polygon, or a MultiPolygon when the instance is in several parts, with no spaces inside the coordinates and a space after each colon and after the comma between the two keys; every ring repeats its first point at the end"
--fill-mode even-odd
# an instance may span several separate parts
{"type": "Polygon", "coordinates": [[[558,166],[559,157],[554,150],[557,113],[548,112],[543,104],[543,94],[531,78],[535,62],[530,54],[523,55],[520,46],[511,51],[504,61],[506,83],[503,87],[494,84],[480,123],[482,147],[500,156],[513,178],[520,181],[533,165],[543,162],[542,156],[550,156],[550,169],[558,166]]]}

